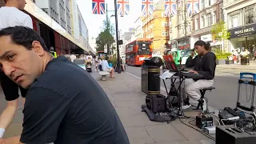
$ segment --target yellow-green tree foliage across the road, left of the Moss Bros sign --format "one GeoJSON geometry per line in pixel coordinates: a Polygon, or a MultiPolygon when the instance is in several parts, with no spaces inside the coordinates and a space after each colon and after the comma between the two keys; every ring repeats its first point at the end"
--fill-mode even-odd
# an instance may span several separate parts
{"type": "Polygon", "coordinates": [[[225,22],[220,21],[214,24],[211,29],[212,38],[214,40],[226,40],[230,38],[230,32],[227,31],[225,22]]]}

